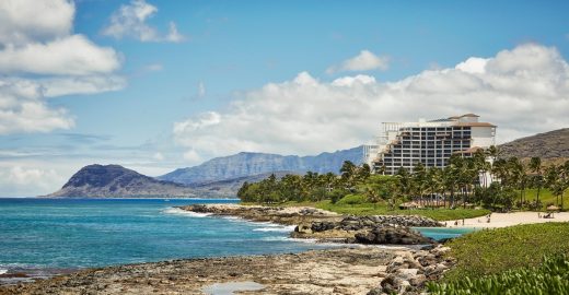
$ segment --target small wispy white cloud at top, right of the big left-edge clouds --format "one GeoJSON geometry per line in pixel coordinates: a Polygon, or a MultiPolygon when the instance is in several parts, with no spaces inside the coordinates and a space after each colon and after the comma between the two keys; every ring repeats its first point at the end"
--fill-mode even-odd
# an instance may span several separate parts
{"type": "Polygon", "coordinates": [[[111,23],[102,34],[117,39],[131,37],[141,42],[182,42],[184,36],[177,31],[174,22],[169,23],[169,33],[161,34],[147,23],[158,12],[158,8],[144,0],[132,0],[111,15],[111,23]]]}

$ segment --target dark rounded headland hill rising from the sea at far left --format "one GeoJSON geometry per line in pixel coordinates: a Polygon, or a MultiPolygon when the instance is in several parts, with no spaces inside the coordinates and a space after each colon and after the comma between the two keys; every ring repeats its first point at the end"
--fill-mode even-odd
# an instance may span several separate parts
{"type": "Polygon", "coordinates": [[[45,197],[206,197],[196,190],[171,181],[156,180],[119,165],[89,165],[77,172],[58,191],[45,197]]]}

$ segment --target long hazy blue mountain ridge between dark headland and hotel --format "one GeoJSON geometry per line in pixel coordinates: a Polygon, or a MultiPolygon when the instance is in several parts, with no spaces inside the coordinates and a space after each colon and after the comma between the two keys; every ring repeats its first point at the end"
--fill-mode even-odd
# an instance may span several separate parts
{"type": "Polygon", "coordinates": [[[334,153],[322,153],[315,156],[283,156],[242,152],[231,156],[216,157],[198,166],[179,168],[156,178],[178,184],[198,185],[274,172],[297,174],[304,174],[309,170],[320,174],[338,173],[345,161],[361,164],[362,156],[362,146],[334,153]]]}

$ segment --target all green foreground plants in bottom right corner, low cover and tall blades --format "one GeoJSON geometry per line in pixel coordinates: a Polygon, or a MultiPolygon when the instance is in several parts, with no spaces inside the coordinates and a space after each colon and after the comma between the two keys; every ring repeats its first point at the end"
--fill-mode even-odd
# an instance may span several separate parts
{"type": "Polygon", "coordinates": [[[569,224],[480,231],[448,244],[455,267],[432,294],[567,294],[569,224]]]}

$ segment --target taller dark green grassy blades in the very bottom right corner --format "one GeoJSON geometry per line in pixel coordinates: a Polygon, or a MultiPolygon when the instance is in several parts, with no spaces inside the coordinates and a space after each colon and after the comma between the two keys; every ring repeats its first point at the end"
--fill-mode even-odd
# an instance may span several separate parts
{"type": "Polygon", "coordinates": [[[542,295],[569,294],[569,257],[566,255],[545,258],[537,268],[504,271],[478,279],[468,276],[450,283],[428,283],[433,295],[542,295]]]}

